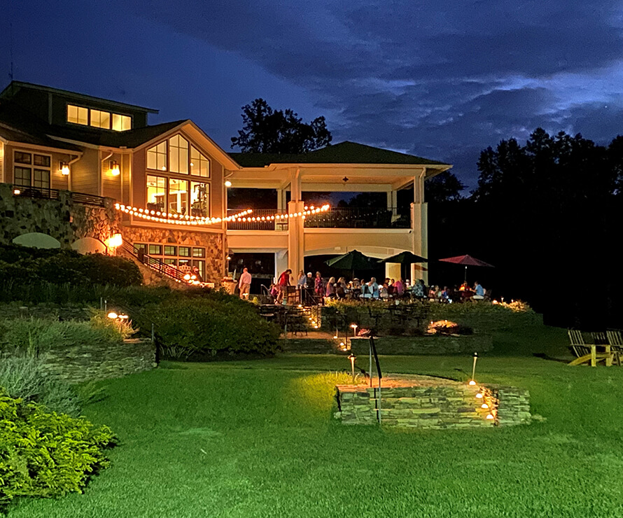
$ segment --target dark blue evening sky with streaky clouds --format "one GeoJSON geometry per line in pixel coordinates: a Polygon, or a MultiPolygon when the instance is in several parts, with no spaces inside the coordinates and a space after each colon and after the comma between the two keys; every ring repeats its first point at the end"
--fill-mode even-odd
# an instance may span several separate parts
{"type": "Polygon", "coordinates": [[[195,120],[225,150],[264,97],[353,140],[455,165],[535,127],[623,133],[615,1],[13,1],[15,79],[195,120]]]}

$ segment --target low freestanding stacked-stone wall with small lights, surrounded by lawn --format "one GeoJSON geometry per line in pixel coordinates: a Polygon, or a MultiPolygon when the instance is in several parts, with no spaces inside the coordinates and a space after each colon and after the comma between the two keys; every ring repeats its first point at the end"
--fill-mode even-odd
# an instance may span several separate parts
{"type": "MultiPolygon", "coordinates": [[[[418,377],[402,386],[381,388],[381,424],[405,428],[483,428],[531,420],[528,391],[514,387],[474,387],[456,381],[418,377]],[[476,394],[483,397],[478,399],[476,394]],[[482,408],[486,403],[488,408],[482,408]],[[491,414],[493,419],[487,419],[491,414]]],[[[338,385],[336,419],[344,424],[377,423],[377,387],[338,385]]]]}

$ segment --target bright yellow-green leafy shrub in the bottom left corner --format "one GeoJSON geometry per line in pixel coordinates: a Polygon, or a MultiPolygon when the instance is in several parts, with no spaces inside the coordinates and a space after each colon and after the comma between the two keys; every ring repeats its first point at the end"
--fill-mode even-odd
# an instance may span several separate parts
{"type": "Polygon", "coordinates": [[[107,426],[48,412],[0,388],[0,506],[19,496],[82,492],[109,465],[105,450],[114,440],[107,426]]]}

